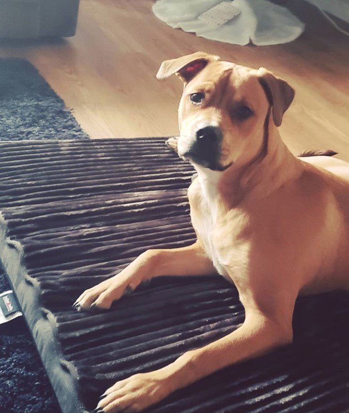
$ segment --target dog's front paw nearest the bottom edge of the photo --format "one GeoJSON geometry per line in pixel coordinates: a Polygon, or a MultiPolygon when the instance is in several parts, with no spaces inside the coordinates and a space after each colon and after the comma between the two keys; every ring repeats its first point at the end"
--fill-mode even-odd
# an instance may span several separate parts
{"type": "Polygon", "coordinates": [[[95,413],[141,412],[169,394],[158,371],[134,374],[118,381],[101,397],[95,413]]]}

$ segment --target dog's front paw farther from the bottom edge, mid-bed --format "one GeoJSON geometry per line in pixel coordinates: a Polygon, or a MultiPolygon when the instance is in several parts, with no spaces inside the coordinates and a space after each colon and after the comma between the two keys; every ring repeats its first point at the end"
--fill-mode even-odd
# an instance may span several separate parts
{"type": "Polygon", "coordinates": [[[98,308],[107,310],[111,307],[113,301],[119,299],[122,295],[130,292],[134,288],[135,286],[132,286],[130,281],[125,279],[120,273],[85,290],[75,301],[73,308],[77,311],[98,308]]]}

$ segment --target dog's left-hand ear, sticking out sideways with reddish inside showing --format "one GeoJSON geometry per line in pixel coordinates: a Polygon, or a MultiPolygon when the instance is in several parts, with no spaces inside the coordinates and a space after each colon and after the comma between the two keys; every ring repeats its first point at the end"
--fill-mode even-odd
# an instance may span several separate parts
{"type": "Polygon", "coordinates": [[[219,60],[218,56],[204,52],[196,52],[181,56],[172,60],[162,62],[156,77],[158,79],[167,79],[176,74],[184,83],[190,82],[194,76],[204,69],[209,62],[219,60]]]}

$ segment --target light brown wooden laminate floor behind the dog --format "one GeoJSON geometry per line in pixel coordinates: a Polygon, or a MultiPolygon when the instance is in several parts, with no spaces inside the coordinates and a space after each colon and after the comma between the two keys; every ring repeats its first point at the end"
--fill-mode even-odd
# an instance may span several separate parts
{"type": "Polygon", "coordinates": [[[172,29],[153,15],[152,0],[81,0],[75,37],[3,41],[0,57],[31,61],[92,138],[177,133],[181,83],[155,79],[165,59],[203,50],[264,66],[296,89],[280,128],[288,146],[330,148],[349,161],[349,38],[304,1],[286,3],[307,22],[306,32],[292,43],[256,47],[172,29]]]}

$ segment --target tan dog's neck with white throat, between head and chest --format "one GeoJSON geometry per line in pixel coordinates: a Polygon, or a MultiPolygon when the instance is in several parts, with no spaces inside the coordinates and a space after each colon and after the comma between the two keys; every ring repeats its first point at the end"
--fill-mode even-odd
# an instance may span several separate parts
{"type": "Polygon", "coordinates": [[[237,161],[224,172],[194,166],[208,202],[212,205],[219,200],[227,209],[247,199],[255,202],[267,197],[303,172],[302,162],[283,143],[271,119],[267,141],[247,162],[237,161]]]}

